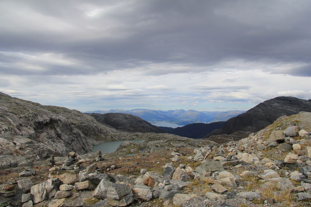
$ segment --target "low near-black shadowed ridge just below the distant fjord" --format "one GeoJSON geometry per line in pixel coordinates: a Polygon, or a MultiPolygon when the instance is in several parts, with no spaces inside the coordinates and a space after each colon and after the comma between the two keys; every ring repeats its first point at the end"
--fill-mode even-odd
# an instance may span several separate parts
{"type": "Polygon", "coordinates": [[[188,137],[193,139],[199,139],[204,137],[215,129],[220,129],[225,124],[224,121],[213,122],[209,124],[205,123],[193,123],[187,124],[183,127],[171,128],[171,127],[160,127],[166,133],[176,134],[181,137],[188,137]]]}

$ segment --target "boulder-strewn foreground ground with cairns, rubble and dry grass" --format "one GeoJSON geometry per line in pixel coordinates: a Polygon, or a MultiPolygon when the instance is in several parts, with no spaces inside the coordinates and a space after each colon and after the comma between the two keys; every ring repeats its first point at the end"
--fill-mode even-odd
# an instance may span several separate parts
{"type": "Polygon", "coordinates": [[[1,170],[0,206],[310,206],[310,131],[300,112],[223,145],[180,137],[146,141],[135,156],[120,157],[142,143],[70,152],[1,170]]]}

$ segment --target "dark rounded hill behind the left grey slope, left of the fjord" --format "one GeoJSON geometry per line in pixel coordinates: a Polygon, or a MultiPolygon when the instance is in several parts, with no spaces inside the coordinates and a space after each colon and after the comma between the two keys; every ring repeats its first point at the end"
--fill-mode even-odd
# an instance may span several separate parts
{"type": "Polygon", "coordinates": [[[87,114],[96,119],[101,124],[107,124],[118,130],[126,132],[153,132],[165,133],[161,128],[131,114],[108,113],[108,114],[87,114]]]}

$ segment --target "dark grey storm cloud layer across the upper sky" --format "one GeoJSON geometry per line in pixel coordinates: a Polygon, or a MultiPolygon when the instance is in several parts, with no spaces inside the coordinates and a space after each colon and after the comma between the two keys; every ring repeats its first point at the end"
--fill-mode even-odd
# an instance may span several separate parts
{"type": "MultiPolygon", "coordinates": [[[[159,75],[199,72],[230,59],[309,63],[310,7],[310,1],[2,1],[0,72],[191,66],[160,65],[147,73],[159,75]]],[[[307,68],[265,71],[310,76],[307,68]]]]}

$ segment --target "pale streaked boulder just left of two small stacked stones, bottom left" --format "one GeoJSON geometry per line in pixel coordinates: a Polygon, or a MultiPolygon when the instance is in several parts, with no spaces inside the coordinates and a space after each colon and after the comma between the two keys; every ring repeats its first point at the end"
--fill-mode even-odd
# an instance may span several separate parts
{"type": "Polygon", "coordinates": [[[32,186],[30,193],[32,195],[34,204],[52,198],[59,190],[59,186],[62,184],[63,182],[58,178],[53,178],[32,186]]]}

